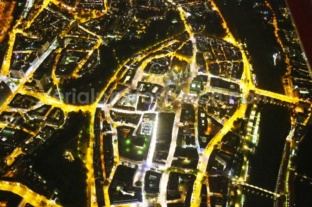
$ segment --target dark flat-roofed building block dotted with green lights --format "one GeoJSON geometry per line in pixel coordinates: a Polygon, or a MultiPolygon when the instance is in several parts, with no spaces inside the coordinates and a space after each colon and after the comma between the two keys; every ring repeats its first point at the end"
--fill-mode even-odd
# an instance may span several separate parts
{"type": "Polygon", "coordinates": [[[147,159],[151,136],[134,136],[134,128],[117,127],[118,152],[120,157],[134,161],[147,159]]]}

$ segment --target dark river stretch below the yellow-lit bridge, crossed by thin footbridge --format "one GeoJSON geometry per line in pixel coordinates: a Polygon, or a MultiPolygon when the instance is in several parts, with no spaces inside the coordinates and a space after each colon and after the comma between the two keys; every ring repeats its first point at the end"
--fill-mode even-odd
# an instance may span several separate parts
{"type": "MultiPolygon", "coordinates": [[[[246,182],[268,191],[275,190],[285,139],[290,131],[290,116],[285,107],[274,104],[259,104],[259,143],[250,156],[246,182]]],[[[253,188],[244,190],[244,206],[273,206],[273,197],[253,188]],[[254,191],[252,193],[252,191],[254,191]],[[263,195],[261,195],[263,194],[263,195]]]]}

